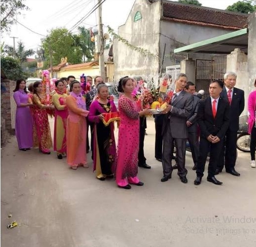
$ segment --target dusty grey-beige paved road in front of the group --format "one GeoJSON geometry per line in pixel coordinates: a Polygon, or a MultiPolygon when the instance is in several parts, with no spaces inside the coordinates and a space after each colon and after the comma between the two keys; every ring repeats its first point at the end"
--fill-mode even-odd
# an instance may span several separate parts
{"type": "Polygon", "coordinates": [[[152,169],[139,168],[145,184],[131,190],[95,179],[90,158],[90,168],[71,170],[54,153],[19,151],[12,137],[1,148],[1,246],[255,247],[256,169],[249,166],[249,154],[238,153],[241,177],[217,176],[222,186],[205,177],[201,185],[193,184],[190,153],[188,184],[176,171],[161,183],[152,119],[147,134],[145,154],[152,169]],[[11,220],[19,226],[7,229],[11,220]]]}

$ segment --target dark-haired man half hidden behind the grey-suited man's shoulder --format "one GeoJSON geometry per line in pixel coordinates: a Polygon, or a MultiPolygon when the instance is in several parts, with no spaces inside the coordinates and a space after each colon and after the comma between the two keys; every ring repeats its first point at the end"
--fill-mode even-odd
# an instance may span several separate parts
{"type": "Polygon", "coordinates": [[[187,127],[188,127],[188,141],[189,146],[192,153],[192,158],[194,162],[193,170],[197,169],[198,164],[198,157],[199,157],[199,136],[198,136],[198,107],[199,107],[199,97],[194,95],[196,91],[196,86],[193,82],[187,82],[185,86],[185,91],[193,95],[193,109],[192,114],[189,116],[187,120],[187,127]]]}

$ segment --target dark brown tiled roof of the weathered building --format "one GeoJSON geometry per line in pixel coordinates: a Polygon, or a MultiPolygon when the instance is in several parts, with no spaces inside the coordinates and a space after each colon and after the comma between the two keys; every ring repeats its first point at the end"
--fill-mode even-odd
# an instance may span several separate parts
{"type": "Polygon", "coordinates": [[[174,1],[163,2],[162,19],[203,26],[241,29],[247,26],[248,14],[231,12],[174,1]]]}

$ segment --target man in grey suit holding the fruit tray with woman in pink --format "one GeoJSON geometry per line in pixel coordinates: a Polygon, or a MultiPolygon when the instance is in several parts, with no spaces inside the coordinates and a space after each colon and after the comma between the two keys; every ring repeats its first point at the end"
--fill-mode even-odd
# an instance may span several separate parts
{"type": "Polygon", "coordinates": [[[163,136],[163,173],[161,182],[171,178],[173,167],[171,165],[171,150],[173,140],[176,146],[178,176],[182,183],[187,183],[187,169],[185,168],[186,140],[188,138],[187,119],[193,109],[193,95],[184,91],[187,83],[185,74],[178,74],[175,78],[175,89],[170,105],[162,111],[165,114],[162,136],[163,136]]]}

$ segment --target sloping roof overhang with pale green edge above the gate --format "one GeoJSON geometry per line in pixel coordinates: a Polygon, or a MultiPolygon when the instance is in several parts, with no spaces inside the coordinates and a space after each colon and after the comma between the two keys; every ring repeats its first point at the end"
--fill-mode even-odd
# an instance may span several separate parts
{"type": "Polygon", "coordinates": [[[245,54],[248,52],[247,28],[229,32],[214,38],[206,39],[191,45],[174,49],[177,53],[207,53],[230,54],[235,48],[240,48],[245,54]]]}

